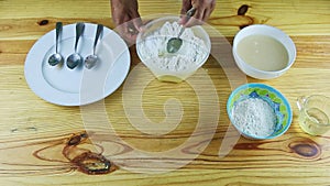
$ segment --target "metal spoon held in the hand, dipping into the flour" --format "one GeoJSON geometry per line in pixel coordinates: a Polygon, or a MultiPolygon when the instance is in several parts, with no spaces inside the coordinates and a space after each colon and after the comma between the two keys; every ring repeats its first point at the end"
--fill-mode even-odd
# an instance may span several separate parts
{"type": "MultiPolygon", "coordinates": [[[[189,20],[191,17],[194,17],[195,12],[196,12],[195,8],[188,10],[186,13],[186,19],[189,20]]],[[[166,47],[168,53],[176,53],[182,47],[183,40],[180,39],[180,36],[184,33],[184,31],[185,28],[183,26],[177,37],[172,37],[168,40],[167,47],[166,47]]]]}

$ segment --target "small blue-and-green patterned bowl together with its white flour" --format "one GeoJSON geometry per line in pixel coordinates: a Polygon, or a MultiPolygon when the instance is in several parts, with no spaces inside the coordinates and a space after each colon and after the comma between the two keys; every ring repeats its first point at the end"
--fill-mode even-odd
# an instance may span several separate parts
{"type": "Polygon", "coordinates": [[[293,121],[287,99],[265,84],[245,84],[230,95],[227,113],[245,138],[268,140],[284,134],[293,121]]]}

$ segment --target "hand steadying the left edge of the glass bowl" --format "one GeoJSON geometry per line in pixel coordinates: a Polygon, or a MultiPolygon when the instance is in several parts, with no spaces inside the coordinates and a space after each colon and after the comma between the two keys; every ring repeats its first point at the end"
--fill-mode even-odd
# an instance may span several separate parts
{"type": "Polygon", "coordinates": [[[110,0],[110,2],[116,30],[129,44],[135,43],[142,26],[138,0],[110,0]]]}

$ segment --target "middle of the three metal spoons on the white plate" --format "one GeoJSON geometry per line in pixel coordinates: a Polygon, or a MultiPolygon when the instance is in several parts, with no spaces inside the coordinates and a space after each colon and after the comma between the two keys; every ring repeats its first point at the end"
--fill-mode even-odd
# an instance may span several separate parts
{"type": "Polygon", "coordinates": [[[66,65],[70,69],[74,69],[75,67],[77,67],[78,65],[80,65],[82,63],[82,57],[77,53],[77,46],[78,46],[79,39],[84,33],[84,30],[85,30],[85,24],[84,23],[77,23],[76,24],[75,53],[72,54],[70,56],[68,56],[67,59],[66,59],[66,65]]]}

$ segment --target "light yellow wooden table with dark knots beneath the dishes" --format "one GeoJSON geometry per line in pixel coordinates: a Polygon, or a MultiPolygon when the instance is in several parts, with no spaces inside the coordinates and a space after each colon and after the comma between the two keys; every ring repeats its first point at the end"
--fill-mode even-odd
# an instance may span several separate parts
{"type": "MultiPolygon", "coordinates": [[[[180,1],[177,0],[141,0],[140,13],[178,13],[180,1]]],[[[205,101],[209,106],[215,106],[216,102],[217,107],[210,111],[219,109],[216,125],[208,121],[215,119],[213,116],[206,112],[204,114],[209,118],[202,124],[207,125],[196,133],[200,97],[191,85],[166,84],[153,79],[141,97],[145,117],[155,124],[143,129],[152,132],[146,134],[134,128],[125,114],[123,97],[130,94],[129,85],[139,86],[141,83],[139,78],[131,77],[132,72],[140,67],[142,73],[136,76],[150,77],[134,47],[130,47],[131,78],[101,101],[101,108],[105,108],[116,135],[102,135],[102,131],[107,131],[109,125],[98,121],[95,125],[86,124],[85,108],[61,107],[40,99],[28,87],[24,62],[32,45],[53,30],[56,21],[64,24],[78,21],[103,23],[113,29],[109,1],[0,1],[1,185],[330,185],[330,133],[323,136],[304,133],[298,124],[296,107],[296,98],[300,96],[330,96],[329,12],[329,0],[218,0],[217,9],[208,23],[228,41],[232,41],[240,26],[265,23],[289,34],[297,47],[294,66],[282,77],[257,80],[243,76],[233,83],[264,83],[280,90],[294,111],[289,130],[284,135],[267,141],[240,138],[229,146],[223,141],[238,138],[235,131],[231,130],[226,113],[226,102],[233,87],[216,57],[211,56],[201,74],[191,79],[194,85],[200,87],[206,85],[205,75],[210,77],[215,87],[210,89],[210,94],[216,92],[217,96],[210,97],[213,100],[205,98],[205,101]],[[238,15],[238,10],[243,4],[249,6],[248,12],[238,15]],[[168,129],[162,125],[165,134],[155,135],[155,132],[160,132],[156,130],[160,127],[157,123],[165,118],[163,107],[168,100],[180,102],[182,120],[168,129]],[[85,135],[86,130],[89,136],[85,135]],[[97,132],[91,133],[90,130],[97,132]],[[166,130],[169,132],[166,133],[166,130]],[[168,158],[129,155],[132,150],[162,154],[185,144],[193,134],[200,136],[201,141],[189,143],[179,151],[182,154],[169,155],[168,158]],[[118,143],[118,139],[122,143],[118,143]],[[227,154],[219,156],[221,146],[229,150],[227,154]],[[74,157],[84,152],[101,153],[118,166],[109,174],[85,174],[74,162],[74,157]],[[158,167],[155,162],[160,163],[158,167]],[[173,168],[174,165],[182,167],[173,168]]],[[[102,111],[97,108],[91,110],[102,111]]],[[[139,109],[138,106],[136,108],[139,109]]],[[[170,112],[170,108],[167,111],[170,112]]]]}

